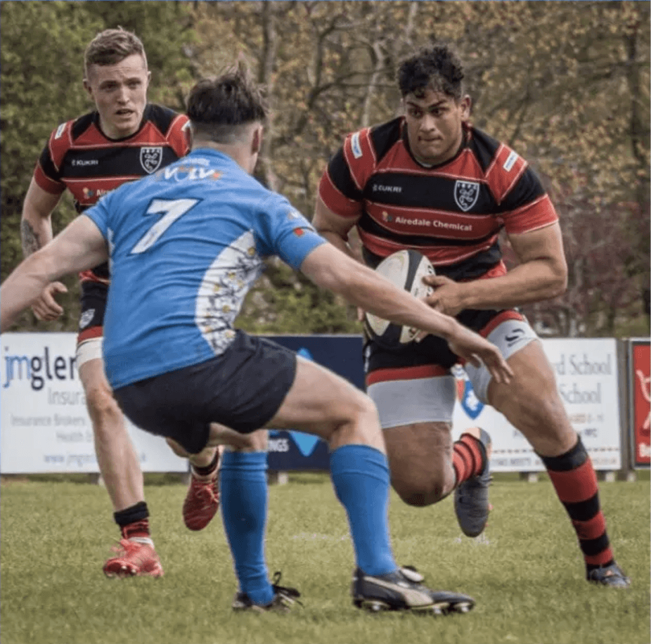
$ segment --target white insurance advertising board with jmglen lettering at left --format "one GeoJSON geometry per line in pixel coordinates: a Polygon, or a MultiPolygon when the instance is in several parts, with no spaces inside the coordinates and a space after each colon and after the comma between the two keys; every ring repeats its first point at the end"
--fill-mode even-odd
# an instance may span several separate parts
{"type": "MultiPolygon", "coordinates": [[[[75,333],[4,333],[0,340],[0,472],[99,472],[75,333]]],[[[126,422],[143,472],[188,470],[165,439],[126,422]]]]}

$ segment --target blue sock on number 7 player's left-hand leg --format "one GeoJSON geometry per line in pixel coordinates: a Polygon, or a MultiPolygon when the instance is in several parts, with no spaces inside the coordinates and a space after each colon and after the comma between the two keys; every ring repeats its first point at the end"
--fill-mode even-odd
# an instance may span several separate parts
{"type": "Polygon", "coordinates": [[[273,599],[264,562],[266,486],[266,452],[224,452],[219,470],[224,530],[240,592],[259,605],[273,599]]]}

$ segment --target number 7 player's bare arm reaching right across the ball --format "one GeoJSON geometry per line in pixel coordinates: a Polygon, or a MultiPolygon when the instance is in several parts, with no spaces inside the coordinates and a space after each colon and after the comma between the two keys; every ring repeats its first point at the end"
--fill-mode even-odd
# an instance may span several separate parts
{"type": "Polygon", "coordinates": [[[476,365],[484,362],[498,382],[509,382],[513,375],[498,349],[488,340],[397,288],[331,244],[322,244],[310,252],[301,271],[316,285],[342,295],[365,311],[443,337],[458,356],[476,365]]]}

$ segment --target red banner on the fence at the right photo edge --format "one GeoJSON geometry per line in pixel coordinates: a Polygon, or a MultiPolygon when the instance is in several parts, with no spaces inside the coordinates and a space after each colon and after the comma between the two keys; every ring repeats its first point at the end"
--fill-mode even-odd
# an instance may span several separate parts
{"type": "Polygon", "coordinates": [[[651,465],[650,340],[629,340],[629,418],[634,468],[651,465]]]}

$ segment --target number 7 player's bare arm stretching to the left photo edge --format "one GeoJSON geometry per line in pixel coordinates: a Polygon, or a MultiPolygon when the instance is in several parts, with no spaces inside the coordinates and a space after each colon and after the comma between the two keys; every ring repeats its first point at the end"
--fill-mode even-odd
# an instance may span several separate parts
{"type": "Polygon", "coordinates": [[[6,331],[49,283],[105,262],[108,251],[99,228],[77,217],[41,250],[23,260],[0,287],[0,332],[6,331]]]}

